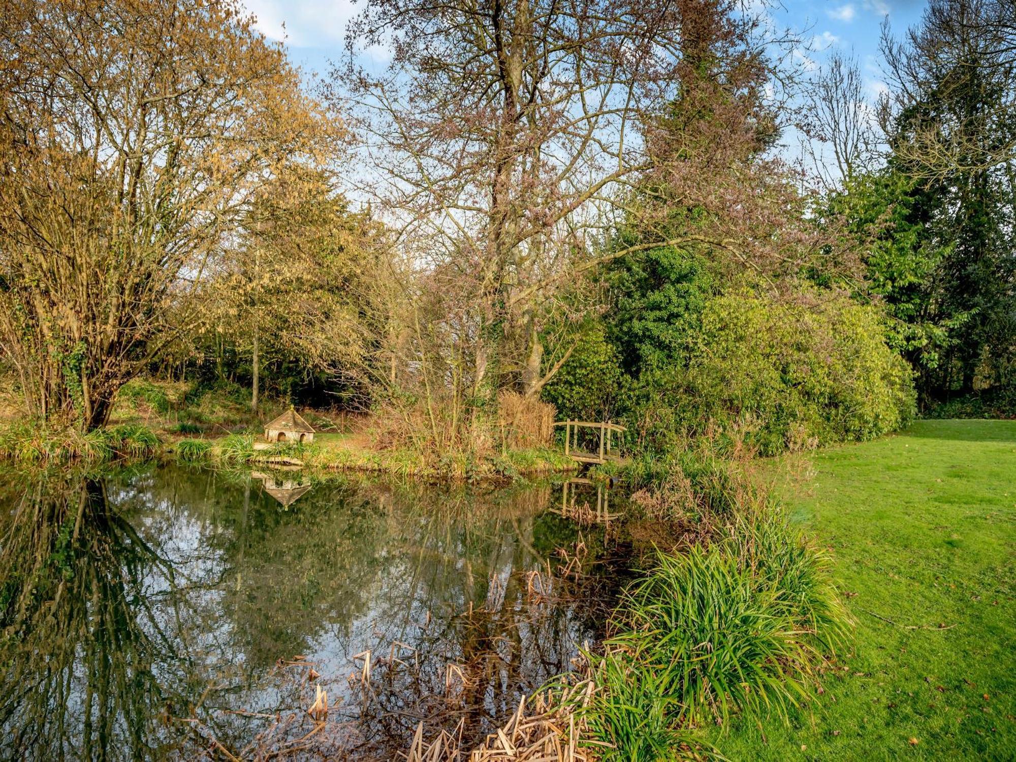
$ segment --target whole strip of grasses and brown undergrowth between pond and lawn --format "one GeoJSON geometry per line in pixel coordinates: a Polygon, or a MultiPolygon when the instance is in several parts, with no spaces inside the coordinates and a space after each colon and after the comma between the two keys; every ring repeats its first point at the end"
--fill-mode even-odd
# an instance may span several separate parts
{"type": "Polygon", "coordinates": [[[738,715],[788,721],[848,640],[825,554],[743,463],[708,446],[598,473],[638,488],[636,513],[686,536],[678,552],[654,552],[590,655],[598,691],[583,717],[607,745],[601,758],[701,756],[703,727],[738,715]]]}

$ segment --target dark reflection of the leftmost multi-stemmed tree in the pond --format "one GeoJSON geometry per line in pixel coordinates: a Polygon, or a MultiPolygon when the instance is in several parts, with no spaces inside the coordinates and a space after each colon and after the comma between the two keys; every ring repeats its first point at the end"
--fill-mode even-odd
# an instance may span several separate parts
{"type": "MultiPolygon", "coordinates": [[[[29,759],[151,748],[179,701],[152,665],[180,654],[145,593],[166,559],[109,510],[101,482],[30,484],[2,527],[0,722],[29,759]]],[[[157,743],[154,744],[157,748],[157,743]]]]}

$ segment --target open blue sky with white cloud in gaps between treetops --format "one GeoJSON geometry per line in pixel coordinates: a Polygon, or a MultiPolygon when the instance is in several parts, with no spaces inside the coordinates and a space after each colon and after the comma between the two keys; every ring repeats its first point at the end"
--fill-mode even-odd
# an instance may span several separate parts
{"type": "MultiPolygon", "coordinates": [[[[308,72],[326,74],[328,60],[341,54],[345,24],[362,4],[351,0],[243,0],[258,17],[258,28],[272,40],[285,43],[295,63],[308,72]]],[[[896,34],[920,18],[925,0],[783,0],[769,13],[779,26],[808,34],[815,51],[809,60],[820,63],[833,47],[852,50],[861,62],[869,89],[878,91],[882,80],[878,51],[880,26],[888,16],[896,34]]],[[[372,52],[375,62],[385,52],[372,52]]]]}

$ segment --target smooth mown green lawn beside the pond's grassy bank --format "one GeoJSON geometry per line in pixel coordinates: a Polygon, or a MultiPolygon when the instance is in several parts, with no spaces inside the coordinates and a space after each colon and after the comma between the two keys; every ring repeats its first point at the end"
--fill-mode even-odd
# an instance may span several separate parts
{"type": "Polygon", "coordinates": [[[1016,422],[922,421],[813,464],[784,498],[833,554],[853,651],[789,726],[711,741],[732,760],[1016,759],[1016,422]]]}

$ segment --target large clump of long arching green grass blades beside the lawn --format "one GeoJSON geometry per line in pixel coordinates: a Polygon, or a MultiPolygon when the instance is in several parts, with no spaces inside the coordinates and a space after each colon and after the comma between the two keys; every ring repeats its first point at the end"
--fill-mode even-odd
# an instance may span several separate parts
{"type": "Polygon", "coordinates": [[[657,759],[739,713],[785,721],[845,642],[827,558],[775,506],[653,562],[624,593],[596,670],[588,721],[612,745],[605,760],[657,759]]]}

